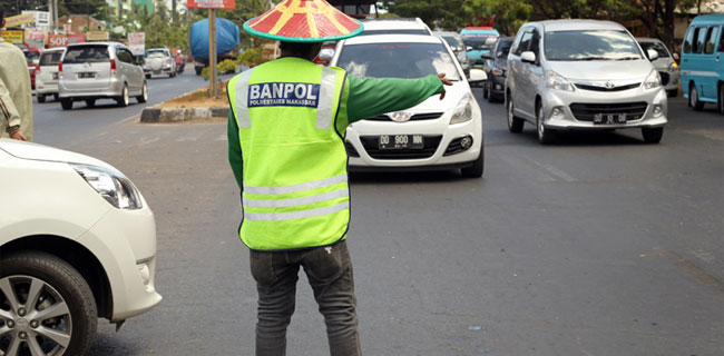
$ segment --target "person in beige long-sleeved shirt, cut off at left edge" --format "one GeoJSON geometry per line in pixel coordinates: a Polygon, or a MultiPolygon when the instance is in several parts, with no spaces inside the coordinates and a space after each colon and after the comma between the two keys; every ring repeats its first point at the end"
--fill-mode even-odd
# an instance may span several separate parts
{"type": "MultiPolygon", "coordinates": [[[[0,28],[6,26],[0,4],[0,28]]],[[[32,141],[32,90],[22,51],[0,37],[0,138],[32,141]]]]}

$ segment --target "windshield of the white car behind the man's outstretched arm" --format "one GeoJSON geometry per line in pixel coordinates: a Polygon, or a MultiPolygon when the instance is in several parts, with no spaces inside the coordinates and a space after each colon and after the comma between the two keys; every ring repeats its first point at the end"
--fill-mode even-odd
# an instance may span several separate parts
{"type": "Polygon", "coordinates": [[[336,66],[360,78],[420,78],[446,73],[449,80],[461,80],[454,59],[442,43],[350,44],[342,49],[336,66]]]}

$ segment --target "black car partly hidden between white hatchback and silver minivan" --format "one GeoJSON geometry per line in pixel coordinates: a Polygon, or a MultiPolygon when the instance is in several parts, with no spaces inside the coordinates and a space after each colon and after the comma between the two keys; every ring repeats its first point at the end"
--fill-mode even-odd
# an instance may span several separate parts
{"type": "Polygon", "coordinates": [[[489,53],[482,55],[486,60],[488,81],[482,88],[482,97],[490,102],[502,102],[506,93],[506,75],[508,75],[508,52],[515,37],[500,37],[489,53]]]}

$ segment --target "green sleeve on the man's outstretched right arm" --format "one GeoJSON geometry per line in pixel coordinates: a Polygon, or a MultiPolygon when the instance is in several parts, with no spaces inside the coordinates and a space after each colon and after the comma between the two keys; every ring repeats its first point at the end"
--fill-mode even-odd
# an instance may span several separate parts
{"type": "Polygon", "coordinates": [[[429,97],[442,93],[442,81],[437,76],[419,79],[358,78],[348,76],[350,98],[346,115],[350,123],[411,108],[429,97]]]}

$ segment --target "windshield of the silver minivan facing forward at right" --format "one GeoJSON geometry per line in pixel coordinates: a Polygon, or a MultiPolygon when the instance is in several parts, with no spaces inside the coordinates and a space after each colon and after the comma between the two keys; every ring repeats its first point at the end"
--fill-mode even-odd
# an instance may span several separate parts
{"type": "Polygon", "coordinates": [[[546,33],[548,60],[643,59],[636,41],[626,31],[583,30],[546,33]]]}

